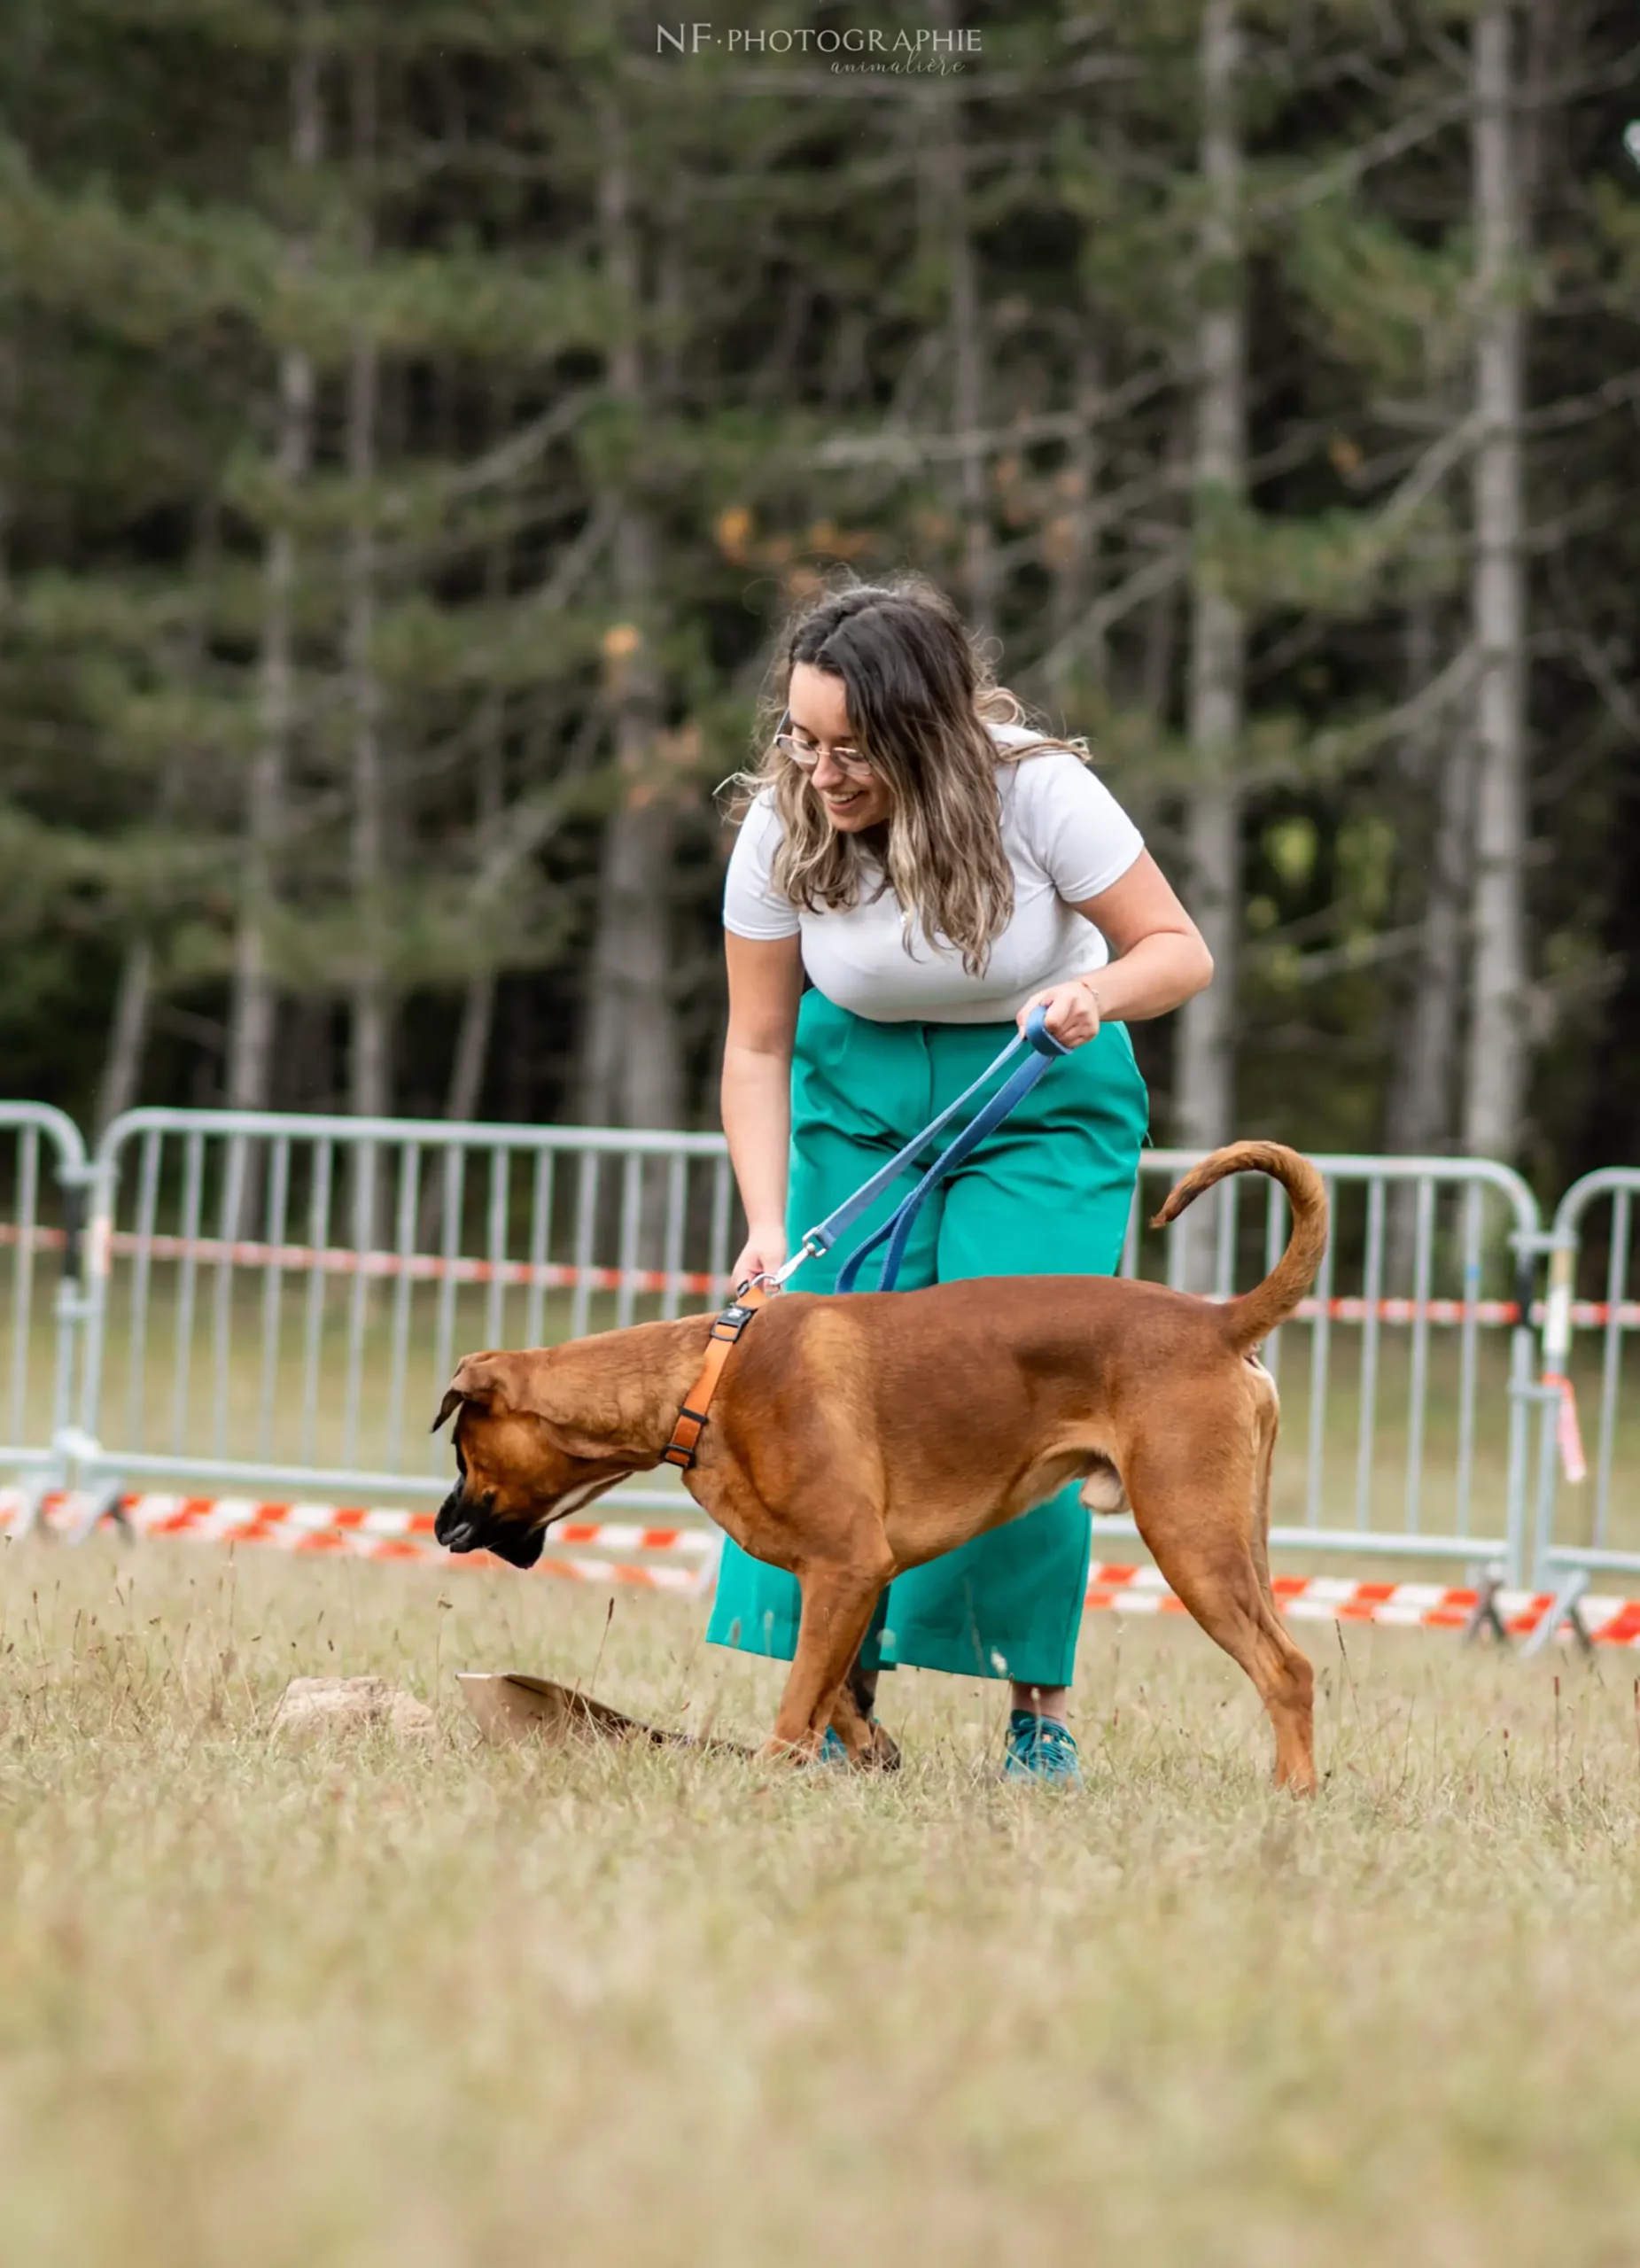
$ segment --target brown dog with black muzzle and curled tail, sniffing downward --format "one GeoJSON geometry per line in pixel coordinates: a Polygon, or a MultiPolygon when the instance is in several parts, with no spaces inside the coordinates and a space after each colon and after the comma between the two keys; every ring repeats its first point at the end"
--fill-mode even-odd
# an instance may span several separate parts
{"type": "MultiPolygon", "coordinates": [[[[835,1724],[867,1762],[871,1730],[846,1678],[882,1585],[1082,1479],[1087,1504],[1132,1504],[1166,1581],[1257,1685],[1277,1783],[1313,1789],[1313,1676],[1266,1563],[1277,1397],[1252,1349],[1320,1266],[1327,1193],[1295,1150],[1243,1141],[1202,1159],[1155,1225],[1232,1173],[1275,1175],[1293,1202],[1286,1252],[1241,1300],[1116,1277],[989,1277],[783,1293],[753,1318],[687,1488],[803,1590],[767,1753],[810,1755],[835,1724]]],[[[710,1322],[470,1354],[433,1422],[460,1411],[460,1479],[438,1540],[533,1567],[553,1520],[660,1463],[710,1322]]]]}

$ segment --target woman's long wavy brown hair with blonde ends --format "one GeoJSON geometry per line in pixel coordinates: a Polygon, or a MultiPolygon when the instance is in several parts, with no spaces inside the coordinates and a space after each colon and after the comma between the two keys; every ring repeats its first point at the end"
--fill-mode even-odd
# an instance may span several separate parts
{"type": "Polygon", "coordinates": [[[730,816],[773,794],[780,848],[773,887],[810,912],[860,905],[891,889],[905,950],[912,925],[962,953],[982,975],[991,946],[1014,919],[1014,873],[1003,848],[996,773],[1000,764],[1064,748],[1087,762],[1082,742],[1039,735],[998,748],[987,726],[1023,723],[1025,703],[991,676],[950,599],[923,576],[844,583],[801,608],[785,626],[758,708],[758,760],[735,773],[730,816]],[[878,837],[830,826],[819,794],[780,753],[792,669],[808,662],[842,678],[853,744],[889,792],[878,837]]]}

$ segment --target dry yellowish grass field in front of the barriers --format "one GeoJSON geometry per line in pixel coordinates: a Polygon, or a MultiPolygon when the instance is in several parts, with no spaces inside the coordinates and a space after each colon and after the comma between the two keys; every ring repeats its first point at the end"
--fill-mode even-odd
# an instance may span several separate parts
{"type": "Polygon", "coordinates": [[[1297,1808],[1193,1628],[1089,1619],[1053,1796],[912,1674],[898,1780],[474,1744],[454,1667],[760,1728],[665,1599],[34,1542],[0,1606],[7,2261],[1635,2257],[1629,1656],[1311,1626],[1297,1808]],[[336,1669],[440,1737],[270,1746],[336,1669]]]}

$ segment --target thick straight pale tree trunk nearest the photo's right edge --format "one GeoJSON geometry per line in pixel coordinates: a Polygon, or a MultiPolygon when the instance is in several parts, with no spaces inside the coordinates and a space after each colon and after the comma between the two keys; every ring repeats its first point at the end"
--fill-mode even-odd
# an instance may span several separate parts
{"type": "Polygon", "coordinates": [[[1481,329],[1474,395],[1472,624],[1477,649],[1474,887],[1463,1143],[1520,1150],[1527,1093],[1527,578],[1522,560],[1524,227],[1515,195],[1511,23],[1493,0],[1472,32],[1474,240],[1481,329]]]}

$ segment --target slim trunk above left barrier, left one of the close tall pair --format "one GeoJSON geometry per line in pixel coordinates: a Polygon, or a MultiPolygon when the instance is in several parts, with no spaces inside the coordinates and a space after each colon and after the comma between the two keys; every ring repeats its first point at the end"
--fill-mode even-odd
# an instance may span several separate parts
{"type": "MultiPolygon", "coordinates": [[[[320,161],[320,52],[313,9],[304,9],[302,41],[290,66],[290,156],[299,172],[320,161]]],[[[304,268],[308,238],[290,238],[288,261],[304,268]]],[[[313,456],[313,363],[302,347],[279,349],[279,433],[274,469],[288,494],[313,456]]],[[[234,932],[234,996],[229,1007],[227,1100],[231,1109],[268,1109],[274,1046],[274,980],[268,962],[268,914],[279,891],[279,846],[286,835],[286,798],[293,728],[293,596],[297,576],[295,535],[274,526],[263,560],[261,631],[261,744],[252,760],[245,812],[245,862],[240,909],[234,932]]]]}

